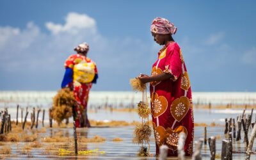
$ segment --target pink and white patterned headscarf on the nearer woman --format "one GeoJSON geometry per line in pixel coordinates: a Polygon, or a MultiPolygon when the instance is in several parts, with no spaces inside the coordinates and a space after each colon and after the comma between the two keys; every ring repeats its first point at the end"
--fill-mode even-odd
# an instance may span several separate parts
{"type": "Polygon", "coordinates": [[[157,33],[161,35],[174,35],[177,31],[177,28],[169,20],[163,19],[161,17],[156,17],[156,19],[152,21],[150,31],[152,33],[157,33]]]}

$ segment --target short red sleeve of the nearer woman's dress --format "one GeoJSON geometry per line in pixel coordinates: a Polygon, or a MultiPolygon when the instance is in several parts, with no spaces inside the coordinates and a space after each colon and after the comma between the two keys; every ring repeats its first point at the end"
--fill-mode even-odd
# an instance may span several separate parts
{"type": "Polygon", "coordinates": [[[172,74],[172,80],[176,81],[182,73],[182,60],[180,59],[180,48],[170,49],[166,55],[164,73],[172,74]]]}

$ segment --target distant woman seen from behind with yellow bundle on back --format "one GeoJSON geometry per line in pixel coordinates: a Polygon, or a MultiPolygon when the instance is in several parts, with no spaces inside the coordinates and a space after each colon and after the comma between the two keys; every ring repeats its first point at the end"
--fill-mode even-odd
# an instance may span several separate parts
{"type": "Polygon", "coordinates": [[[77,100],[73,115],[76,127],[90,127],[87,103],[92,83],[97,82],[98,71],[95,62],[87,57],[88,44],[79,44],[74,50],[77,54],[72,54],[65,61],[66,71],[61,88],[68,87],[74,92],[77,100]]]}

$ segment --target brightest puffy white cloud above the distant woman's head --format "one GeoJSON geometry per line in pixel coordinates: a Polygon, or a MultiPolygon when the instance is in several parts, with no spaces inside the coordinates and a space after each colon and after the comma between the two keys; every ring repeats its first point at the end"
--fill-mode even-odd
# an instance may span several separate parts
{"type": "Polygon", "coordinates": [[[54,24],[54,22],[47,22],[46,28],[49,29],[54,35],[61,32],[68,32],[77,34],[80,29],[91,29],[93,32],[96,31],[96,21],[86,14],[79,14],[70,12],[68,13],[65,24],[54,24]]]}

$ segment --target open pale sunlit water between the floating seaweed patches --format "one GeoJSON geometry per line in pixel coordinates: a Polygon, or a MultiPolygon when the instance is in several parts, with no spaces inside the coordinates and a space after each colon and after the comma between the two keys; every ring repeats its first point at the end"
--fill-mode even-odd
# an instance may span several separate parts
{"type": "MultiPolygon", "coordinates": [[[[0,92],[0,110],[3,108],[8,108],[8,112],[12,116],[12,120],[16,119],[16,106],[19,104],[22,108],[26,108],[31,112],[33,107],[39,107],[45,109],[45,125],[49,120],[48,109],[51,107],[52,97],[56,92],[0,92]]],[[[232,102],[233,104],[255,104],[255,93],[196,93],[193,94],[194,102],[200,101],[201,103],[214,104],[228,104],[232,102]],[[228,97],[229,95],[229,97],[228,97]],[[212,96],[212,100],[211,100],[212,96]]],[[[132,105],[136,105],[139,102],[141,95],[134,92],[92,92],[89,101],[89,112],[88,117],[90,120],[125,120],[127,122],[140,121],[137,113],[134,112],[117,112],[109,111],[109,109],[103,109],[102,106],[106,104],[112,105],[113,108],[129,108],[132,105]],[[99,107],[101,106],[101,107],[99,107]]],[[[250,109],[246,110],[246,114],[250,113],[250,109]]],[[[225,118],[236,118],[237,115],[241,115],[243,109],[194,109],[195,123],[205,123],[211,124],[225,124],[225,118]]],[[[20,113],[19,113],[20,114],[20,113]]],[[[30,116],[29,116],[30,117],[30,116]]],[[[29,121],[30,118],[28,118],[29,121]]],[[[151,118],[150,118],[151,119],[151,118]]],[[[42,120],[42,113],[39,117],[42,120]]],[[[255,120],[255,114],[253,114],[252,121],[255,120]]],[[[39,125],[41,127],[41,125],[39,125]]],[[[216,152],[218,155],[221,154],[221,140],[225,139],[224,127],[207,127],[207,137],[218,136],[216,140],[216,152]]],[[[251,129],[252,130],[252,129],[251,129]]],[[[39,136],[51,136],[52,133],[56,131],[63,131],[66,136],[72,136],[73,130],[70,129],[47,129],[47,133],[39,134],[39,136]]],[[[96,156],[86,156],[89,159],[140,159],[136,156],[139,145],[132,143],[134,127],[98,127],[90,129],[77,129],[78,138],[81,136],[91,138],[95,135],[102,136],[106,138],[104,143],[88,143],[86,146],[83,145],[83,150],[93,150],[98,148],[100,151],[105,151],[105,154],[97,154],[96,156]],[[113,138],[122,138],[121,142],[113,142],[113,138]]],[[[245,145],[243,143],[243,131],[241,132],[242,140],[233,143],[233,150],[239,153],[233,154],[233,159],[244,159],[245,157],[245,145]]],[[[250,132],[248,134],[250,136],[250,132]]],[[[195,127],[195,141],[199,138],[204,138],[204,127],[195,127]]],[[[40,137],[39,137],[40,139],[40,137]]],[[[154,137],[152,136],[152,139],[154,137]]],[[[70,142],[73,143],[73,142],[70,142]]],[[[7,159],[27,159],[26,155],[20,154],[20,145],[22,143],[6,143],[12,146],[12,157],[7,159]],[[18,145],[17,145],[18,144],[18,145]]],[[[253,144],[253,150],[255,150],[256,142],[253,144]]],[[[150,142],[150,153],[155,153],[156,147],[154,141],[150,142]]],[[[34,159],[56,159],[61,158],[59,156],[52,156],[43,154],[44,148],[36,148],[32,150],[34,159]]],[[[83,158],[84,156],[81,156],[83,158]]],[[[203,145],[202,147],[202,157],[203,159],[209,159],[209,145],[203,145]]],[[[63,157],[65,159],[74,159],[75,157],[63,157]]],[[[147,157],[147,159],[156,159],[156,157],[147,157]]],[[[256,155],[252,154],[251,159],[256,159],[256,155]]]]}

